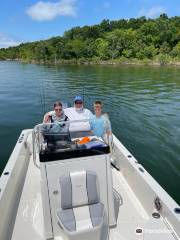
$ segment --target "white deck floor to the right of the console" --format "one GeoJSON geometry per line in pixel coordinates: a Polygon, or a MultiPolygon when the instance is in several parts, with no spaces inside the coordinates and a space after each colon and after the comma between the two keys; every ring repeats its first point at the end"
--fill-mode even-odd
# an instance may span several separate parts
{"type": "MultiPolygon", "coordinates": [[[[163,218],[149,217],[128,186],[121,172],[113,169],[113,184],[121,196],[117,227],[110,230],[110,240],[174,240],[163,218]],[[136,229],[142,229],[141,234],[136,229]]],[[[117,210],[116,210],[117,211],[117,210]]]]}

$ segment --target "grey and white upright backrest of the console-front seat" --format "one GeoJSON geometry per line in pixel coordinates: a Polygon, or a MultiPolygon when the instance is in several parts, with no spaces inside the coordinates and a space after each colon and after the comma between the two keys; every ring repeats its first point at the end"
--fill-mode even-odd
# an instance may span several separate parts
{"type": "Polygon", "coordinates": [[[94,171],[70,172],[60,178],[61,207],[69,209],[99,202],[97,175],[94,171]]]}

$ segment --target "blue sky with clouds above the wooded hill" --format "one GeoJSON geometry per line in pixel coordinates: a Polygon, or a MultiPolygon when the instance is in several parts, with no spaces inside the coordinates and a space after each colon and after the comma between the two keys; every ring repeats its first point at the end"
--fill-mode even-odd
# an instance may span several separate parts
{"type": "Polygon", "coordinates": [[[161,13],[180,16],[180,0],[1,0],[0,48],[63,35],[75,26],[161,13]]]}

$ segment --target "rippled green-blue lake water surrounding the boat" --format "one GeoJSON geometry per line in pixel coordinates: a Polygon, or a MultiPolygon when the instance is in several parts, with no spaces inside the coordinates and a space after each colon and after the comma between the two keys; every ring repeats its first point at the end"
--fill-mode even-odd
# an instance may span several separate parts
{"type": "Polygon", "coordinates": [[[180,204],[180,68],[0,62],[0,173],[21,130],[75,95],[103,101],[114,134],[180,204]]]}

